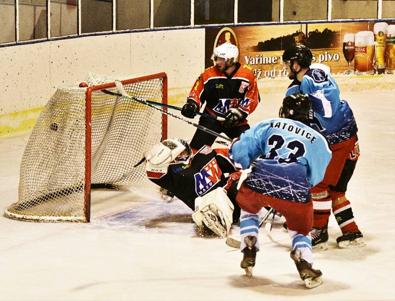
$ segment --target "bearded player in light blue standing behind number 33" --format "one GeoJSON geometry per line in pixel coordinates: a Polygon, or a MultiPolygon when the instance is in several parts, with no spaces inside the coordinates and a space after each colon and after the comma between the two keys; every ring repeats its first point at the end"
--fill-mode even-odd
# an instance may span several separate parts
{"type": "Polygon", "coordinates": [[[340,99],[339,87],[330,71],[311,68],[312,59],[312,52],[304,45],[292,46],[282,55],[284,68],[289,79],[293,80],[286,96],[296,92],[309,95],[312,111],[308,122],[326,136],[332,149],[332,160],[322,182],[311,190],[314,204],[313,249],[327,249],[331,209],[343,234],[336,240],[339,247],[363,247],[362,233],[346,198],[347,184],[359,157],[356,120],[347,101],[340,99]]]}

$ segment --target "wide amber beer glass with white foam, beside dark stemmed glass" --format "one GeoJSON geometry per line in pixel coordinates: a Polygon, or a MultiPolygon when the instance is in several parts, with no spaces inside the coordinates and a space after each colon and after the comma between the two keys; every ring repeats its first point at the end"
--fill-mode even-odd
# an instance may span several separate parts
{"type": "Polygon", "coordinates": [[[372,31],[360,31],[355,35],[356,74],[374,74],[374,36],[372,31]]]}

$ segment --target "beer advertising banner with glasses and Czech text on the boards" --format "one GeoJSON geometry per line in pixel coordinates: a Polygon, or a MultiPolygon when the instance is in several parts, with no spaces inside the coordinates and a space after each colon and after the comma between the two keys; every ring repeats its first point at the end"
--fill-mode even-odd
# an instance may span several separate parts
{"type": "Polygon", "coordinates": [[[207,28],[205,67],[213,49],[228,42],[239,48],[238,61],[249,65],[257,79],[287,77],[282,53],[304,44],[313,63],[323,63],[332,74],[395,73],[395,22],[344,22],[207,28]]]}

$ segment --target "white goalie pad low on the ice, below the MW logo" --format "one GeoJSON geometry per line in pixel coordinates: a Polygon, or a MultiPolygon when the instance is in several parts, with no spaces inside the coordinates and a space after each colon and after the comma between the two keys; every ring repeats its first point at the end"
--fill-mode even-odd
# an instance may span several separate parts
{"type": "Polygon", "coordinates": [[[226,190],[218,187],[195,199],[195,213],[192,218],[197,226],[201,227],[204,223],[216,235],[224,238],[231,230],[234,209],[226,190]]]}

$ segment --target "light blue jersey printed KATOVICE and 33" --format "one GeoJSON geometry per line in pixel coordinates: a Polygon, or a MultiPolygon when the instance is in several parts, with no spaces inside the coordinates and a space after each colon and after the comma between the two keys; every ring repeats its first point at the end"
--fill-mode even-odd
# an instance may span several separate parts
{"type": "Polygon", "coordinates": [[[259,193],[306,203],[310,188],[322,181],[332,157],[325,137],[305,124],[285,118],[262,121],[232,144],[235,165],[253,165],[245,184],[259,193]]]}

